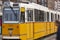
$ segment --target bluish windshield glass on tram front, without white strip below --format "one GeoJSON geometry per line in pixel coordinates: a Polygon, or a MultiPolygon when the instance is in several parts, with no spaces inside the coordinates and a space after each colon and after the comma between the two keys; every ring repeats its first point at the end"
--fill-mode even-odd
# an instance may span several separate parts
{"type": "Polygon", "coordinates": [[[4,21],[19,21],[19,10],[16,9],[14,12],[11,8],[4,8],[3,14],[4,21]]]}

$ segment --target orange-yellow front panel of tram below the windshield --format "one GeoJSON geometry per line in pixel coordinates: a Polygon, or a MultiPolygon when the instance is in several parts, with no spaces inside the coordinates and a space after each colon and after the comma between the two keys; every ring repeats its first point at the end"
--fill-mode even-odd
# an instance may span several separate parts
{"type": "Polygon", "coordinates": [[[18,24],[2,24],[2,35],[10,35],[9,28],[12,28],[12,35],[19,35],[19,25],[18,24]]]}

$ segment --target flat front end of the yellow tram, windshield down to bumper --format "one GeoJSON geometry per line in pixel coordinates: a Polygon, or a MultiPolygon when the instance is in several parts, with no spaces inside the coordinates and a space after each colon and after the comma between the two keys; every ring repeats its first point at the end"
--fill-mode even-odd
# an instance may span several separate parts
{"type": "Polygon", "coordinates": [[[2,36],[3,40],[19,39],[19,6],[5,6],[3,8],[2,36]]]}

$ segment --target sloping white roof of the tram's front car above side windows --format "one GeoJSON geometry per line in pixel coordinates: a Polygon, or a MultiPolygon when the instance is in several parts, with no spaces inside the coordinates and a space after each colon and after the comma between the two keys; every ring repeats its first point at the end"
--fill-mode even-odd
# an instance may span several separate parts
{"type": "Polygon", "coordinates": [[[25,8],[38,9],[38,10],[43,10],[46,12],[49,11],[47,7],[44,7],[44,6],[36,4],[36,3],[29,3],[29,4],[20,3],[19,5],[21,7],[25,7],[25,8]]]}

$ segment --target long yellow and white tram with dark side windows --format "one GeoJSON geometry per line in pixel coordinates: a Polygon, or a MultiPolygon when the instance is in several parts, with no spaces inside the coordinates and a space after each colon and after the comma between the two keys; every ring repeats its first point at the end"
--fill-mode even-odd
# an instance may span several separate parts
{"type": "Polygon", "coordinates": [[[60,12],[35,3],[11,3],[3,8],[3,40],[39,40],[57,31],[60,12]]]}

